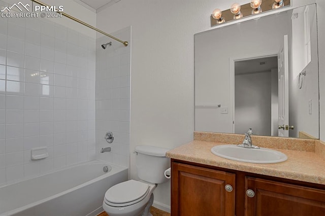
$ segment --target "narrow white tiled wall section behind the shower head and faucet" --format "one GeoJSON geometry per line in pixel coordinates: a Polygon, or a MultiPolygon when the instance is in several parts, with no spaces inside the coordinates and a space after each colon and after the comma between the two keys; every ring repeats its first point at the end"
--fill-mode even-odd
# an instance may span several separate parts
{"type": "MultiPolygon", "coordinates": [[[[131,27],[112,35],[131,42],[131,27]]],[[[96,158],[129,167],[131,43],[124,47],[107,37],[96,41],[96,158]],[[110,41],[112,46],[102,49],[110,41]],[[104,139],[108,130],[114,134],[112,144],[104,139]],[[100,153],[105,147],[112,151],[100,153]]]]}

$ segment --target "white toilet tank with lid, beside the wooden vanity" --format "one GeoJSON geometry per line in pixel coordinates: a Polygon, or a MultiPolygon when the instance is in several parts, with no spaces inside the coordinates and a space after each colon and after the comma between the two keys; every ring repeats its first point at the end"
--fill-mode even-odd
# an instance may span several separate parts
{"type": "Polygon", "coordinates": [[[136,166],[140,179],[153,184],[161,184],[168,181],[164,171],[170,165],[170,158],[166,158],[169,149],[153,146],[136,147],[136,166]]]}

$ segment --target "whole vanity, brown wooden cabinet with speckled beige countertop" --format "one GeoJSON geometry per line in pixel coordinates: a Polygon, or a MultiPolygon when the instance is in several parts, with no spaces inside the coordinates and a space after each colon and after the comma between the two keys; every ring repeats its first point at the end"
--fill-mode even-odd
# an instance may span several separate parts
{"type": "MultiPolygon", "coordinates": [[[[211,148],[227,140],[217,136],[220,141],[194,138],[167,153],[172,162],[172,215],[324,214],[325,158],[319,152],[325,146],[318,140],[274,137],[274,148],[288,160],[252,164],[213,155],[211,148]],[[306,151],[301,151],[304,147],[306,151]]],[[[264,139],[269,142],[272,137],[264,139]]],[[[267,142],[260,143],[268,147],[267,142]]]]}

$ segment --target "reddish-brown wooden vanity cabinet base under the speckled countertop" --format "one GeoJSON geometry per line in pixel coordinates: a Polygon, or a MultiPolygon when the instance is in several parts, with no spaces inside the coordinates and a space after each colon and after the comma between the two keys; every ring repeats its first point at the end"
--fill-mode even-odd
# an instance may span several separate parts
{"type": "Polygon", "coordinates": [[[172,159],[171,207],[172,216],[318,216],[325,186],[172,159]]]}

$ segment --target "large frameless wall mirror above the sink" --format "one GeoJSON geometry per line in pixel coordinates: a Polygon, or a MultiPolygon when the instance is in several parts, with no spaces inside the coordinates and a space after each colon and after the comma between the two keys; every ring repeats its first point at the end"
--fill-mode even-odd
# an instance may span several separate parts
{"type": "Polygon", "coordinates": [[[316,5],[194,35],[195,130],[319,138],[316,5]]]}

